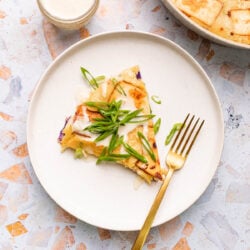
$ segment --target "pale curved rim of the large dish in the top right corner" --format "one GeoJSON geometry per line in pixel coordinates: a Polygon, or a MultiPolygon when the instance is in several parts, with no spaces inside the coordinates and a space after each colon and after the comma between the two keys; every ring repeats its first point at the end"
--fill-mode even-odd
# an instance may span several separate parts
{"type": "Polygon", "coordinates": [[[250,49],[250,45],[244,44],[244,43],[237,43],[232,40],[223,38],[219,35],[216,35],[205,28],[201,27],[194,21],[192,21],[189,17],[187,17],[184,13],[182,13],[173,3],[172,0],[162,0],[162,2],[165,4],[165,6],[170,10],[170,12],[178,19],[180,22],[182,22],[185,26],[187,26],[189,29],[195,31],[196,33],[200,34],[201,36],[214,41],[216,43],[235,47],[235,48],[241,48],[241,49],[250,49]]]}

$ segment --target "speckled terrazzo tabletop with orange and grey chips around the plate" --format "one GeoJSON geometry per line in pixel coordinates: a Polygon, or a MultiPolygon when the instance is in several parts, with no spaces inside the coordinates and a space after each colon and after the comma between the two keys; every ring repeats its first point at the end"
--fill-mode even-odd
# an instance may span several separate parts
{"type": "Polygon", "coordinates": [[[144,249],[250,249],[250,51],[223,47],[186,29],[157,0],[101,0],[79,31],[42,17],[36,1],[0,0],[0,249],[130,249],[135,232],[77,220],[45,193],[29,161],[26,118],[46,67],[80,39],[113,30],[147,31],[186,49],[210,76],[225,121],[218,170],[200,199],[153,228],[144,249]]]}

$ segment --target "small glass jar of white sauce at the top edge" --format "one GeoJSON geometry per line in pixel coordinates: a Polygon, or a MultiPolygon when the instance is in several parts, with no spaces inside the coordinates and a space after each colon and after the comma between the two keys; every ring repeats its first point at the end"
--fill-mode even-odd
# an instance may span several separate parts
{"type": "Polygon", "coordinates": [[[41,12],[54,25],[79,29],[94,15],[99,0],[37,0],[41,12]]]}

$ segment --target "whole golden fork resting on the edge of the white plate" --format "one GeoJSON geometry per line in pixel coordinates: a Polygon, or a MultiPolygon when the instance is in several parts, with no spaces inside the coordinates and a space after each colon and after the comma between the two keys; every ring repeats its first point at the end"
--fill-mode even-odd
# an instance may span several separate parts
{"type": "Polygon", "coordinates": [[[147,235],[150,231],[153,220],[155,218],[155,215],[157,213],[157,210],[158,210],[158,208],[161,204],[161,201],[164,197],[164,194],[167,190],[167,187],[168,187],[168,184],[171,180],[171,177],[172,177],[174,171],[179,170],[184,166],[184,163],[188,157],[188,154],[189,154],[203,124],[204,124],[204,120],[203,120],[200,123],[200,125],[198,126],[198,128],[196,129],[196,127],[200,121],[200,118],[198,118],[196,120],[196,122],[194,123],[194,125],[191,127],[195,116],[192,116],[192,118],[188,122],[189,116],[190,116],[190,114],[188,114],[186,116],[184,122],[182,123],[181,129],[177,133],[177,135],[176,135],[176,137],[175,137],[175,139],[170,147],[170,150],[167,154],[167,157],[166,157],[166,164],[168,166],[167,176],[165,177],[165,179],[161,185],[161,188],[155,197],[153,205],[150,208],[150,211],[147,215],[147,218],[146,218],[139,234],[137,235],[137,238],[134,242],[132,250],[142,249],[142,247],[145,243],[145,240],[147,238],[147,235]],[[187,124],[187,122],[188,122],[188,124],[187,124]]]}

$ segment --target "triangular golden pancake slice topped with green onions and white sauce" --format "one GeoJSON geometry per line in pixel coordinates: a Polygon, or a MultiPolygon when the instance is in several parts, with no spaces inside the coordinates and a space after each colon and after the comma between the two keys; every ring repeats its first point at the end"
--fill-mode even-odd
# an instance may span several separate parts
{"type": "Polygon", "coordinates": [[[155,141],[153,115],[139,67],[106,79],[90,92],[59,137],[62,149],[78,157],[94,155],[119,163],[150,183],[162,180],[163,170],[155,141]]]}

